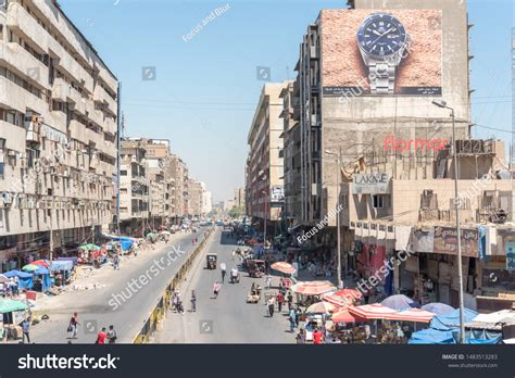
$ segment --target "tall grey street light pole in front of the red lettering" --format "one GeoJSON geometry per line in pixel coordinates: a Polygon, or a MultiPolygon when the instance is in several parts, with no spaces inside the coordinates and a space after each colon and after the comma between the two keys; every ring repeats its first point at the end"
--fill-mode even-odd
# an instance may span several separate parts
{"type": "Polygon", "coordinates": [[[451,119],[452,119],[452,155],[454,159],[454,205],[456,207],[456,238],[457,238],[457,277],[460,280],[460,292],[459,292],[459,301],[460,301],[460,343],[465,343],[465,305],[463,301],[464,292],[463,292],[463,263],[462,263],[462,228],[460,226],[460,207],[461,203],[459,199],[459,189],[457,189],[457,148],[456,148],[456,125],[455,125],[455,115],[454,109],[447,105],[445,101],[432,101],[432,103],[439,108],[449,109],[451,111],[451,119]]]}

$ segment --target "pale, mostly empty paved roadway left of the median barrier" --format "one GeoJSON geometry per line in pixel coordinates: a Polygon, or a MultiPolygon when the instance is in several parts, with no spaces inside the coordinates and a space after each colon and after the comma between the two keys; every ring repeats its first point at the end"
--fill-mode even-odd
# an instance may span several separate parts
{"type": "Polygon", "coordinates": [[[47,312],[50,320],[32,328],[32,341],[67,343],[66,328],[70,317],[73,312],[78,312],[81,327],[73,343],[93,343],[98,328],[110,325],[115,327],[120,343],[130,343],[166,286],[192,252],[194,248],[191,242],[192,236],[197,236],[200,242],[204,232],[206,229],[201,229],[194,235],[174,235],[168,244],[162,244],[155,251],[141,253],[137,259],[122,264],[121,270],[110,270],[106,287],[67,294],[71,297],[63,299],[62,303],[47,312]],[[142,275],[150,279],[143,279],[143,282],[140,279],[142,275]],[[129,289],[129,285],[133,289],[129,289]],[[117,302],[113,295],[117,295],[117,302]]]}

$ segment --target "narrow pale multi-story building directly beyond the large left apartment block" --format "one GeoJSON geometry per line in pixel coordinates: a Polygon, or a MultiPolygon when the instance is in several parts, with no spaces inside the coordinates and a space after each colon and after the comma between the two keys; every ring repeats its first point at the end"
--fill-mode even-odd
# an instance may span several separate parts
{"type": "Polygon", "coordinates": [[[139,140],[123,140],[120,169],[120,220],[124,234],[141,234],[149,226],[147,150],[139,140]]]}

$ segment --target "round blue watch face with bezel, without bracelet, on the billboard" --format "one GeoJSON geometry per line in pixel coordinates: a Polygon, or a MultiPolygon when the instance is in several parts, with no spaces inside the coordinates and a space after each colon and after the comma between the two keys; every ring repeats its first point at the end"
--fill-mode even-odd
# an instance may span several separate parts
{"type": "Polygon", "coordinates": [[[407,42],[407,34],[399,20],[388,13],[376,13],[357,30],[357,43],[366,53],[385,58],[399,52],[407,42]]]}

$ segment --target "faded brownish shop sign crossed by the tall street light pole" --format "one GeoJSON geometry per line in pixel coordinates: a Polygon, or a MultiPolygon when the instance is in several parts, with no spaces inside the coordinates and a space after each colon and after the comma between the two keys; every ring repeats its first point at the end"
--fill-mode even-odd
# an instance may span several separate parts
{"type": "MultiPolygon", "coordinates": [[[[478,257],[477,229],[461,229],[462,256],[478,257]]],[[[457,230],[453,227],[435,227],[435,253],[457,255],[457,230]]]]}

